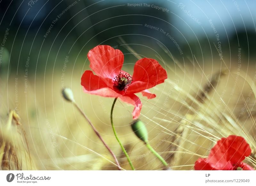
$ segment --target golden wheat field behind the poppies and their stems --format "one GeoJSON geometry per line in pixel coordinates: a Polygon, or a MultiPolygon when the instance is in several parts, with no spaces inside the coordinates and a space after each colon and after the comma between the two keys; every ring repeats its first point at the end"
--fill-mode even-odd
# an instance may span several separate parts
{"type": "MultiPolygon", "coordinates": [[[[159,60],[167,71],[164,83],[150,89],[156,98],[140,97],[140,120],[149,143],[168,163],[165,167],[131,129],[131,105],[117,101],[113,120],[136,170],[193,170],[221,137],[243,136],[252,153],[245,162],[256,167],[254,65],[237,61],[203,65],[176,59],[159,60]],[[239,70],[237,70],[239,69],[239,70]],[[239,72],[239,73],[238,73],[239,72]]],[[[209,63],[210,64],[210,63],[209,63]]],[[[252,64],[252,63],[250,63],[252,64]]],[[[125,170],[127,159],[113,134],[110,109],[113,98],[85,94],[81,75],[88,65],[68,69],[65,85],[77,105],[114,151],[125,170]]],[[[131,72],[132,67],[124,66],[131,72]]],[[[1,80],[0,165],[2,170],[117,170],[116,163],[75,105],[61,96],[61,74],[24,78],[10,74],[1,80]]]]}

